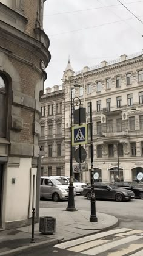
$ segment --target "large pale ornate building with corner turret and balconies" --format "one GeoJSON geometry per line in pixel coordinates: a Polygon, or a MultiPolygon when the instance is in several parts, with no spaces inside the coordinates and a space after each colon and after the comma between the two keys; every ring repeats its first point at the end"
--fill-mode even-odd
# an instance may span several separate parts
{"type": "MultiPolygon", "coordinates": [[[[85,66],[74,72],[68,61],[63,75],[65,88],[65,174],[70,174],[70,93],[78,96],[90,123],[93,116],[94,172],[98,182],[131,181],[143,173],[143,53],[121,55],[111,62],[85,66]],[[80,88],[74,88],[74,84],[80,88]]],[[[77,148],[77,147],[76,147],[77,148]]],[[[75,148],[75,149],[76,149],[75,148]]],[[[90,144],[85,145],[88,169],[73,173],[91,181],[90,144]]],[[[87,166],[87,165],[86,165],[87,166]]]]}

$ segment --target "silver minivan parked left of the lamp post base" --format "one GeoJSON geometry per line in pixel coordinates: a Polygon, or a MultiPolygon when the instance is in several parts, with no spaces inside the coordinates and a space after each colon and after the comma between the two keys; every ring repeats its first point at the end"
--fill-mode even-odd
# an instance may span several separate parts
{"type": "MultiPolygon", "coordinates": [[[[40,198],[53,199],[53,201],[68,199],[68,191],[68,185],[60,177],[41,177],[40,198]]],[[[73,193],[75,196],[75,189],[73,193]]]]}

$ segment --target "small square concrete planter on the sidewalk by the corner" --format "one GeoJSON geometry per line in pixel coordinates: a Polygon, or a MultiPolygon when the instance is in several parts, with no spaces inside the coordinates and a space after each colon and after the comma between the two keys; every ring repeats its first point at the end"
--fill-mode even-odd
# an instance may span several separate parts
{"type": "Polygon", "coordinates": [[[52,235],[56,232],[56,218],[47,216],[40,217],[39,231],[43,235],[52,235]]]}

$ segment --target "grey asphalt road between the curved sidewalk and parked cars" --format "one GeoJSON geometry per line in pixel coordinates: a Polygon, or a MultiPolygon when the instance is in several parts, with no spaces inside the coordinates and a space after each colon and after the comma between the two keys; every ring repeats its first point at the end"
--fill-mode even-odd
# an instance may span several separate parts
{"type": "MultiPolygon", "coordinates": [[[[40,207],[67,208],[67,201],[53,202],[41,200],[40,207]]],[[[75,207],[78,210],[90,210],[90,201],[85,197],[75,197],[75,207]]],[[[113,215],[119,219],[120,227],[143,230],[143,200],[134,199],[127,202],[115,202],[107,200],[96,201],[96,211],[113,215]]]]}

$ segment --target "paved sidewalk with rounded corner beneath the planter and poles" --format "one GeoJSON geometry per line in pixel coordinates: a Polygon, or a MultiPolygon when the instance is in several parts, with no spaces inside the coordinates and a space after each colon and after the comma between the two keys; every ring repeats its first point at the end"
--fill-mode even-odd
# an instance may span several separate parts
{"type": "Polygon", "coordinates": [[[42,235],[39,223],[35,224],[35,243],[30,243],[32,226],[0,232],[0,256],[16,255],[42,244],[56,244],[118,226],[118,219],[104,213],[97,213],[98,222],[89,221],[90,211],[68,212],[61,208],[40,208],[40,216],[56,218],[56,233],[42,235]]]}

